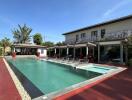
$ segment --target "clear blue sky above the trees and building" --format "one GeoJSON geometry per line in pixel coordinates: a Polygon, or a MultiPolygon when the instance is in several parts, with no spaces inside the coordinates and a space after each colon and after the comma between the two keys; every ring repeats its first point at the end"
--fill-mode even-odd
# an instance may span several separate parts
{"type": "Polygon", "coordinates": [[[0,0],[0,39],[27,24],[46,41],[63,41],[62,33],[132,14],[132,0],[0,0]]]}

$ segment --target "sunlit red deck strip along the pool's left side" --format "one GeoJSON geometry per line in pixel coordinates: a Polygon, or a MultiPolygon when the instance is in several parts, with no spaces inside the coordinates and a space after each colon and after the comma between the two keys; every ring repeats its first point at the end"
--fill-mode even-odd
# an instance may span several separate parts
{"type": "Polygon", "coordinates": [[[0,58],[0,100],[21,100],[2,58],[0,58]]]}

